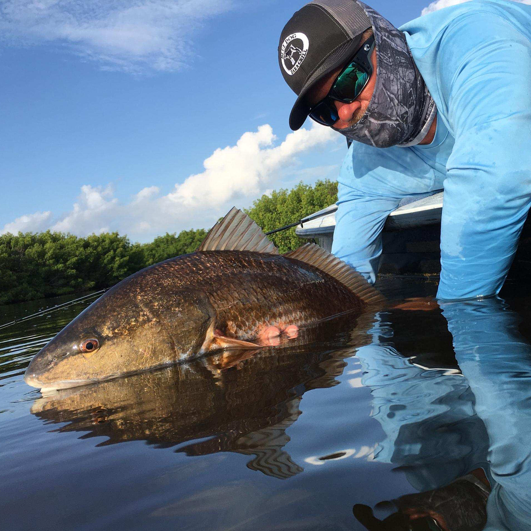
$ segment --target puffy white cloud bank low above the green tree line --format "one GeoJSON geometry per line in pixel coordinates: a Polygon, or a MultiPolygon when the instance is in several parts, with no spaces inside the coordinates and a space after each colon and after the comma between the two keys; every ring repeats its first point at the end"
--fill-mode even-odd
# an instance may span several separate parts
{"type": "MultiPolygon", "coordinates": [[[[234,205],[249,207],[272,187],[285,186],[294,175],[306,173],[314,180],[316,169],[301,169],[301,156],[318,148],[333,149],[334,141],[344,143],[329,127],[313,124],[311,129],[289,133],[279,143],[271,126],[262,125],[244,133],[235,145],[217,149],[203,162],[203,172],[190,175],[166,195],[158,186],[147,186],[129,202],[119,202],[111,186],[84,185],[70,212],[22,216],[6,224],[0,234],[50,228],[85,236],[117,230],[145,241],[165,232],[207,228],[234,205]]],[[[323,172],[330,169],[321,168],[323,172]]]]}

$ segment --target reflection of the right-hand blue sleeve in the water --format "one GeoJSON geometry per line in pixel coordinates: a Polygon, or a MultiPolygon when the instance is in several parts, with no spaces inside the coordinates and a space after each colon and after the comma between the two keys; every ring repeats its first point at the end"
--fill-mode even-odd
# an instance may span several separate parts
{"type": "Polygon", "coordinates": [[[531,531],[531,346],[499,298],[441,305],[489,434],[486,531],[531,531]]]}

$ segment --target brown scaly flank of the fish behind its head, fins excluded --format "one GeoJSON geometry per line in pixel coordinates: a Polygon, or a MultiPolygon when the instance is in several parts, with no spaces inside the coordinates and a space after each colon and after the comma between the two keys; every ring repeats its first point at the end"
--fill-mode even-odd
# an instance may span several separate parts
{"type": "Polygon", "coordinates": [[[327,273],[281,255],[199,251],[152,267],[167,289],[191,287],[207,294],[218,312],[217,326],[238,339],[254,339],[263,326],[303,326],[365,306],[327,273]],[[175,273],[176,284],[166,284],[166,268],[175,273]]]}

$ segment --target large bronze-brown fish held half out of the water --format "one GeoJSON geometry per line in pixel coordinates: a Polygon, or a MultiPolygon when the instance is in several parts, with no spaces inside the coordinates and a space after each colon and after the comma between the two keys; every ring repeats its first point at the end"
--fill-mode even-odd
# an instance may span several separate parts
{"type": "Polygon", "coordinates": [[[313,244],[279,255],[232,209],[198,251],[151,265],[92,303],[32,359],[24,380],[63,389],[196,358],[274,345],[383,297],[313,244]]]}

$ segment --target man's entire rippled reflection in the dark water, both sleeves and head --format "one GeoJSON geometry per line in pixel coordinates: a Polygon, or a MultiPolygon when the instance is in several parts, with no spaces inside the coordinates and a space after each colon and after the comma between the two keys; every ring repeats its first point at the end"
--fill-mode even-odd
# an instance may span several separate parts
{"type": "Polygon", "coordinates": [[[405,464],[400,469],[420,492],[379,503],[376,515],[356,504],[354,516],[370,531],[531,531],[531,347],[520,318],[496,297],[441,307],[466,377],[461,384],[452,375],[430,384],[429,374],[415,375],[418,367],[408,371],[383,326],[372,331],[372,345],[358,349],[374,416],[387,434],[375,459],[405,464]]]}

